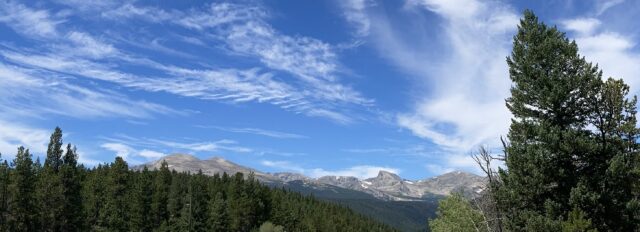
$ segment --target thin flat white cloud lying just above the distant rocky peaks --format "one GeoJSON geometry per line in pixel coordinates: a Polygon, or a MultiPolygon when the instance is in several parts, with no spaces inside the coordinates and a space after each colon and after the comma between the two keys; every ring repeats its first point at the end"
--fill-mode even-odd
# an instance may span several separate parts
{"type": "Polygon", "coordinates": [[[318,178],[322,176],[353,176],[358,179],[367,179],[371,177],[376,177],[378,172],[387,171],[395,174],[400,173],[400,169],[390,168],[390,167],[380,167],[380,166],[369,166],[369,165],[359,165],[353,166],[340,170],[325,170],[322,168],[315,168],[306,170],[305,174],[318,178]]]}

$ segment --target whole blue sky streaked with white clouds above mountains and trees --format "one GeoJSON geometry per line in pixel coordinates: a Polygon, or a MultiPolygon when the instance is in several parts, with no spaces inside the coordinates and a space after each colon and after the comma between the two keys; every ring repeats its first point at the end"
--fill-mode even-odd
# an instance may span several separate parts
{"type": "Polygon", "coordinates": [[[0,1],[0,152],[56,126],[94,166],[173,153],[265,172],[479,173],[525,9],[640,91],[639,1],[0,1]]]}

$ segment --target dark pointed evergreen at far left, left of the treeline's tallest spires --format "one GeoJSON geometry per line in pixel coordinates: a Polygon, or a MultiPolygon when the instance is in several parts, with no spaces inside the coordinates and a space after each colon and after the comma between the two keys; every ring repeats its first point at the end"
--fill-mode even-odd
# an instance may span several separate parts
{"type": "Polygon", "coordinates": [[[36,231],[37,210],[35,207],[33,161],[28,149],[18,148],[13,160],[13,173],[9,187],[9,231],[36,231]]]}

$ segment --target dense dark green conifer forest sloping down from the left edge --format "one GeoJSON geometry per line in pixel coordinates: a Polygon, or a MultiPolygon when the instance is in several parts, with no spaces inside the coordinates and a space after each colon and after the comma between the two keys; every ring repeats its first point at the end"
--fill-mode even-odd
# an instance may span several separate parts
{"type": "Polygon", "coordinates": [[[1,163],[0,231],[393,231],[252,175],[131,171],[120,157],[86,168],[62,145],[56,128],[44,164],[23,147],[1,163]]]}

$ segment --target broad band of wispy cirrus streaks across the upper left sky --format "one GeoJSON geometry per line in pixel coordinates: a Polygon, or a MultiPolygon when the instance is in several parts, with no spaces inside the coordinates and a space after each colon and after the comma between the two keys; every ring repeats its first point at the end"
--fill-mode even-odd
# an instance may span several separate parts
{"type": "MultiPolygon", "coordinates": [[[[114,82],[129,88],[232,103],[263,102],[339,123],[354,121],[344,112],[345,107],[373,104],[371,99],[362,97],[358,91],[340,82],[340,63],[332,45],[277,31],[267,23],[269,13],[259,5],[213,3],[205,8],[183,11],[165,11],[133,3],[78,7],[78,12],[85,13],[100,9],[104,19],[115,22],[143,19],[151,25],[183,27],[189,32],[182,38],[200,41],[196,46],[209,46],[202,41],[219,44],[216,46],[227,51],[225,55],[256,59],[263,67],[212,69],[194,64],[163,65],[124,49],[127,46],[112,44],[118,42],[117,39],[111,39],[112,43],[109,43],[102,36],[65,27],[60,23],[64,22],[64,15],[17,3],[7,3],[4,8],[19,8],[38,13],[39,17],[13,27],[14,30],[22,33],[28,27],[49,25],[46,30],[41,30],[46,31],[48,40],[37,52],[11,48],[2,50],[2,55],[17,65],[114,82]],[[130,65],[159,75],[150,76],[146,75],[148,72],[142,74],[122,68],[130,65]]],[[[6,23],[19,17],[11,11],[7,14],[6,23]]],[[[78,13],[75,16],[86,15],[78,13]]],[[[38,39],[35,34],[43,33],[22,34],[38,39]]],[[[155,46],[147,48],[176,55],[175,51],[168,52],[165,46],[158,46],[157,40],[154,41],[155,46]]]]}

